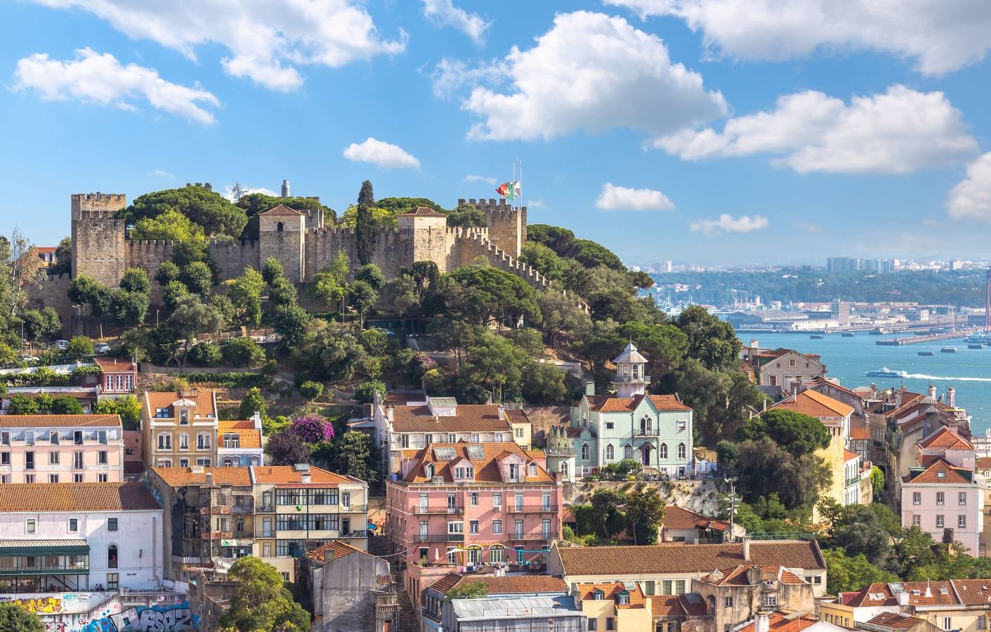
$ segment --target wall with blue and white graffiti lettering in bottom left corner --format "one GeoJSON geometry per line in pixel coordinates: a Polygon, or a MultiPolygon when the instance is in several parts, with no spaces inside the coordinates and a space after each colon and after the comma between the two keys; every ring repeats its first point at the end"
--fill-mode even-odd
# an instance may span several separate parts
{"type": "Polygon", "coordinates": [[[187,632],[199,625],[199,617],[189,609],[189,602],[168,605],[139,605],[121,609],[116,602],[92,613],[93,618],[79,618],[71,623],[47,621],[46,632],[187,632]]]}

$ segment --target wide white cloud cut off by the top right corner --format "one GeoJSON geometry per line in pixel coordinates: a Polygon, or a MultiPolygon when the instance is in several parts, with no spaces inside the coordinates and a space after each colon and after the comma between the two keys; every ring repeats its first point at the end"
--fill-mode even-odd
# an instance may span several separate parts
{"type": "Polygon", "coordinates": [[[817,50],[868,50],[942,74],[991,50],[987,0],[605,0],[640,15],[674,16],[706,45],[741,59],[781,60],[817,50]]]}

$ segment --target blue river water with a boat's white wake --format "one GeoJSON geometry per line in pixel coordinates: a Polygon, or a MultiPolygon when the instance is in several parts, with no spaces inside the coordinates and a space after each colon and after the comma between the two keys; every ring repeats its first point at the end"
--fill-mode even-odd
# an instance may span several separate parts
{"type": "Polygon", "coordinates": [[[962,339],[888,347],[874,343],[899,336],[871,336],[866,332],[858,332],[853,338],[829,334],[822,340],[813,340],[809,334],[737,333],[737,336],[743,344],[757,339],[759,346],[764,348],[785,347],[820,354],[826,363],[826,376],[838,378],[847,388],[874,382],[879,388],[904,384],[912,392],[925,393],[933,384],[938,394],[945,393],[946,386],[953,386],[956,405],[966,408],[972,417],[972,432],[983,434],[986,428],[991,428],[991,348],[967,349],[962,339]],[[940,353],[943,347],[955,347],[956,353],[940,353]],[[933,355],[920,356],[920,351],[931,351],[933,355]],[[902,379],[864,374],[882,367],[904,370],[909,376],[902,379]]]}

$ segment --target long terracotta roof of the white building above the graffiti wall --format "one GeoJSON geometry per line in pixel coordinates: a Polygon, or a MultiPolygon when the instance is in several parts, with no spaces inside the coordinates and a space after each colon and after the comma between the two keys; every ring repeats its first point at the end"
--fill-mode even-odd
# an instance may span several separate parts
{"type": "Polygon", "coordinates": [[[124,511],[160,508],[143,482],[0,485],[0,511],[124,511]]]}

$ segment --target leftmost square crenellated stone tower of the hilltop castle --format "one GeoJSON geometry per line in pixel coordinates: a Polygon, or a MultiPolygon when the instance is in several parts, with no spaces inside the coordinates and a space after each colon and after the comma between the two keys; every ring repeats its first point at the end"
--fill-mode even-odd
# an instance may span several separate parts
{"type": "Polygon", "coordinates": [[[75,193],[72,200],[72,276],[87,274],[116,287],[127,267],[125,222],[114,214],[127,206],[124,193],[75,193]]]}

